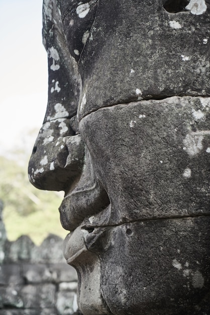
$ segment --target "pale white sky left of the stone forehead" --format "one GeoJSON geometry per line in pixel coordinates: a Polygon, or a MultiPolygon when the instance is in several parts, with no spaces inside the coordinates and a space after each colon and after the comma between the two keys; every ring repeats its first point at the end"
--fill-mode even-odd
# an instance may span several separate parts
{"type": "MultiPolygon", "coordinates": [[[[0,0],[0,155],[42,125],[47,105],[47,53],[42,0],[0,0]]],[[[23,141],[23,139],[25,139],[23,141]]]]}

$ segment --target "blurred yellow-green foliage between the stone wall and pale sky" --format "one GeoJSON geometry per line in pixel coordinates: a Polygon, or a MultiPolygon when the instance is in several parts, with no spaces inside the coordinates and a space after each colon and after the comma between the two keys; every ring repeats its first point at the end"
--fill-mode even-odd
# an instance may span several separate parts
{"type": "Polygon", "coordinates": [[[33,187],[28,180],[27,163],[21,166],[0,156],[0,199],[4,202],[3,218],[10,241],[23,234],[37,245],[48,233],[64,238],[68,231],[62,228],[58,211],[62,198],[61,192],[33,187]]]}

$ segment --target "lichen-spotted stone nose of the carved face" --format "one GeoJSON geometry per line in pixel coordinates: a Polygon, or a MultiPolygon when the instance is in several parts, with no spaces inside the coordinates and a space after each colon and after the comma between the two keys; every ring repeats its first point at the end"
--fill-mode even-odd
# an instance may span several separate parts
{"type": "Polygon", "coordinates": [[[47,121],[40,129],[28,168],[30,182],[39,189],[69,191],[80,177],[84,144],[70,121],[47,121]]]}

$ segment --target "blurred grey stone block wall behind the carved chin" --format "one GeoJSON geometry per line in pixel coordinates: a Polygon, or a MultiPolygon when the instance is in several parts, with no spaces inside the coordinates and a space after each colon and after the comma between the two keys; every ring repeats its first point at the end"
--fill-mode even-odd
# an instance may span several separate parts
{"type": "Polygon", "coordinates": [[[36,246],[23,235],[7,240],[0,201],[0,315],[70,315],[77,312],[77,275],[56,235],[36,246]]]}

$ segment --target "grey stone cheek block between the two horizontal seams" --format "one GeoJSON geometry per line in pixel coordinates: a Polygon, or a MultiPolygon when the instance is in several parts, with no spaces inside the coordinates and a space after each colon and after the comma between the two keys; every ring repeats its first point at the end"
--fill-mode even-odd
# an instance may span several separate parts
{"type": "MultiPolygon", "coordinates": [[[[82,119],[82,137],[111,202],[92,225],[209,215],[209,108],[210,98],[172,97],[103,108],[82,119]]],[[[88,218],[85,224],[91,226],[88,218]]]]}

